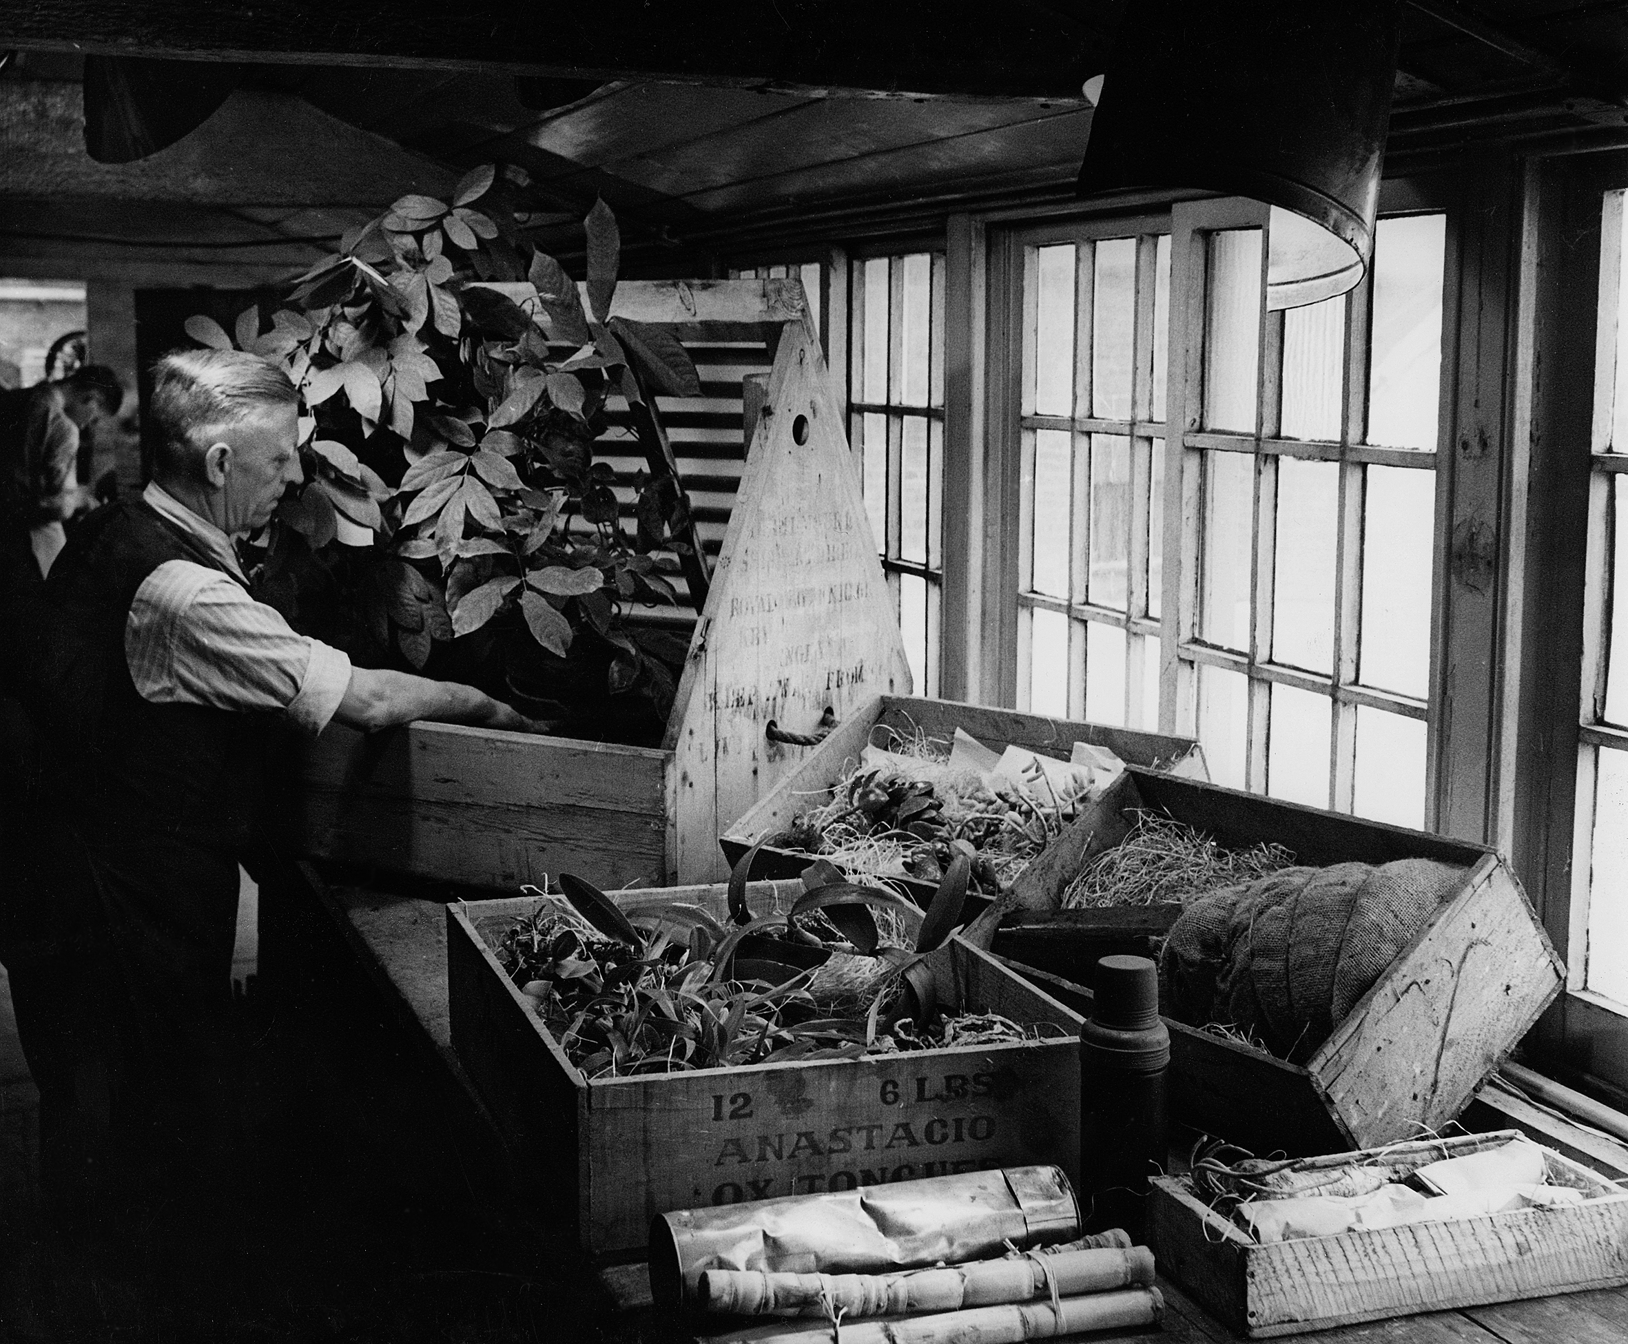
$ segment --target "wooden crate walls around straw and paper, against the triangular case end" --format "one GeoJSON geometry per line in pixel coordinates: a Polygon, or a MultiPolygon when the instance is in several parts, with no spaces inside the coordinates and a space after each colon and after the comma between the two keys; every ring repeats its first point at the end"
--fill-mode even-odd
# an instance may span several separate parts
{"type": "MultiPolygon", "coordinates": [[[[886,745],[889,729],[905,735],[921,731],[928,737],[947,744],[954,739],[957,727],[995,750],[1014,745],[1068,760],[1073,745],[1084,742],[1091,747],[1107,747],[1127,763],[1169,770],[1198,779],[1208,778],[1203,750],[1192,737],[1047,719],[1040,714],[962,705],[954,700],[877,695],[832,729],[830,735],[809,752],[796,770],[720,836],[718,843],[723,846],[724,856],[734,864],[741,854],[752,848],[754,841],[785,830],[799,814],[829,802],[832,791],[860,760],[860,752],[873,742],[886,745]]],[[[807,854],[765,846],[759,853],[752,875],[796,877],[807,864],[807,854]]],[[[933,898],[936,890],[933,882],[894,880],[923,905],[933,898]]]]}

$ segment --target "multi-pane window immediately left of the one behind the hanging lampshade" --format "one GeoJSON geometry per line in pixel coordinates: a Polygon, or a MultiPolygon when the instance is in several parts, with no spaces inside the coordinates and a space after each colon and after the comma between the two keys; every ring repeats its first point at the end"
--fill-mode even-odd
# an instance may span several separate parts
{"type": "Polygon", "coordinates": [[[1159,724],[1169,233],[1024,249],[1017,705],[1159,724]]]}

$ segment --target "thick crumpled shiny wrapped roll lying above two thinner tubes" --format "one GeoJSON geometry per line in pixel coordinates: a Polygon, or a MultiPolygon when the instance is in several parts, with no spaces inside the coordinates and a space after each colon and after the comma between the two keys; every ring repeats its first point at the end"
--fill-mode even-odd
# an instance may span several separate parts
{"type": "Polygon", "coordinates": [[[961,1264],[1079,1235],[1079,1201],[1057,1167],[962,1172],[679,1209],[650,1225],[650,1287],[658,1305],[695,1302],[703,1269],[886,1274],[961,1264]]]}

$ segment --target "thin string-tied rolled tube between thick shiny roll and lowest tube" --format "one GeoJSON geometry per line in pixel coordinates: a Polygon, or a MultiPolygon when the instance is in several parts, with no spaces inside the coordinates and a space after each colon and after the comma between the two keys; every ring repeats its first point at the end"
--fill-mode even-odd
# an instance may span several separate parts
{"type": "Polygon", "coordinates": [[[703,1311],[737,1316],[824,1316],[827,1303],[847,1318],[962,1311],[1004,1302],[1050,1300],[1153,1287],[1153,1251],[1115,1246],[1061,1255],[1013,1256],[913,1269],[907,1274],[773,1274],[705,1269],[697,1292],[703,1311]]]}

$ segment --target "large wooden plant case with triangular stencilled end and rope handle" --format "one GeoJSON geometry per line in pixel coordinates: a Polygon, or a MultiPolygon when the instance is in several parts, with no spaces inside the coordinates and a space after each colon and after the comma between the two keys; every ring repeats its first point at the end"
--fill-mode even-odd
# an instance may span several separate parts
{"type": "Polygon", "coordinates": [[[602,887],[716,880],[718,831],[809,755],[768,740],[770,721],[809,734],[827,709],[851,718],[910,688],[801,285],[628,281],[615,308],[777,347],[663,745],[335,724],[291,761],[291,853],[495,888],[558,871],[602,887]]]}

